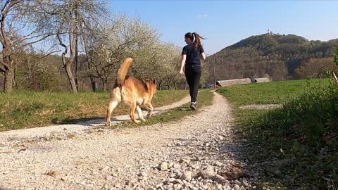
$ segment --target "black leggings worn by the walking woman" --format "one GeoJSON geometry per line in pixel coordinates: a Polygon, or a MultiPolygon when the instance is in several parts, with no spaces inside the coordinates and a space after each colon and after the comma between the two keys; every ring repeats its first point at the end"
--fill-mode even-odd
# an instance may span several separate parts
{"type": "Polygon", "coordinates": [[[185,67],[185,78],[189,85],[189,93],[192,102],[197,99],[197,93],[199,91],[199,80],[201,79],[201,67],[199,66],[187,66],[185,67]]]}

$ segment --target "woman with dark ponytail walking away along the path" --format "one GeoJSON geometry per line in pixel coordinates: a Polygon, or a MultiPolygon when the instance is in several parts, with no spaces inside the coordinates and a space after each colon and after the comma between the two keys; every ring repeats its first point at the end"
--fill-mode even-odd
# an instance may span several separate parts
{"type": "Polygon", "coordinates": [[[180,74],[184,75],[185,65],[185,78],[189,85],[189,92],[192,104],[190,108],[197,110],[197,93],[199,90],[199,79],[201,78],[201,58],[206,59],[206,54],[201,45],[201,39],[199,34],[187,33],[184,35],[184,42],[187,46],[184,46],[182,50],[181,70],[180,74]]]}

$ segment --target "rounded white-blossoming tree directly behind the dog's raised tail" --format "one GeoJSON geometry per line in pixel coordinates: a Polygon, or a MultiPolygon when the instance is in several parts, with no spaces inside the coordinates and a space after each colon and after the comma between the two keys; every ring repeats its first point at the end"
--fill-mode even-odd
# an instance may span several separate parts
{"type": "MultiPolygon", "coordinates": [[[[156,30],[139,18],[114,15],[112,20],[97,25],[88,37],[93,67],[86,75],[100,79],[102,90],[106,90],[107,83],[115,79],[121,61],[127,56],[134,56],[139,49],[154,44],[157,37],[156,30]]],[[[140,65],[137,64],[137,67],[140,65]]]]}

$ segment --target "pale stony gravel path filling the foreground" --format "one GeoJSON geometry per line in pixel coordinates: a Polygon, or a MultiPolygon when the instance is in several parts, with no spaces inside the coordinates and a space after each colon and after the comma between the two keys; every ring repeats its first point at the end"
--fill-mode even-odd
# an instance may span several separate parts
{"type": "Polygon", "coordinates": [[[67,126],[1,132],[0,189],[237,190],[253,189],[258,180],[239,160],[244,145],[234,138],[227,101],[216,93],[212,106],[179,122],[67,126]]]}

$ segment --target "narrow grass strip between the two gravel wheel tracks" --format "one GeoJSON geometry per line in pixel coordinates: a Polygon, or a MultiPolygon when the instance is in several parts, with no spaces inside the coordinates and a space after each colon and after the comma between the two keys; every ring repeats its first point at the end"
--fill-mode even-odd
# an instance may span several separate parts
{"type": "Polygon", "coordinates": [[[146,122],[140,122],[139,124],[134,124],[133,122],[125,122],[120,125],[113,125],[112,128],[116,127],[139,127],[144,125],[154,125],[156,123],[172,122],[180,120],[188,115],[198,113],[201,108],[204,106],[210,106],[213,103],[213,92],[209,90],[199,91],[197,96],[198,110],[190,110],[190,103],[186,103],[180,107],[170,109],[164,113],[153,115],[151,118],[147,119],[146,122]]]}

